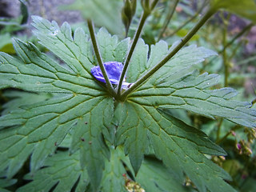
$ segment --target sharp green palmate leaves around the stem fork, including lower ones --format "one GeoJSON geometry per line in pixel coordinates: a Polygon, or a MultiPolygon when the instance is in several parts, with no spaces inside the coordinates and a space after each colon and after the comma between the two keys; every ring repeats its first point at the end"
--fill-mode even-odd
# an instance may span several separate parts
{"type": "MultiPolygon", "coordinates": [[[[126,191],[131,179],[146,191],[190,191],[182,186],[186,177],[198,191],[234,191],[224,181],[230,175],[206,158],[226,152],[170,113],[182,109],[256,126],[250,103],[234,100],[231,88],[210,90],[218,75],[194,70],[214,51],[197,46],[179,50],[120,102],[90,74],[97,62],[88,34],[77,29],[72,35],[67,23],[59,27],[33,19],[39,42],[60,60],[18,39],[13,42],[18,57],[0,54],[0,88],[25,91],[9,92],[15,99],[0,118],[3,176],[13,178],[30,157],[26,179],[32,182],[18,191],[126,191]]],[[[104,29],[96,38],[103,62],[124,61],[129,38],[119,42],[104,29]]],[[[149,54],[140,39],[126,82],[136,82],[174,46],[168,49],[160,41],[150,46],[149,54]]]]}

